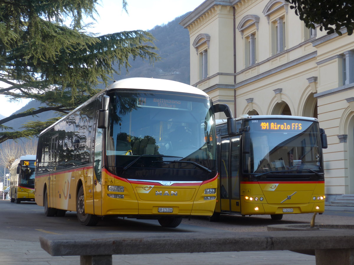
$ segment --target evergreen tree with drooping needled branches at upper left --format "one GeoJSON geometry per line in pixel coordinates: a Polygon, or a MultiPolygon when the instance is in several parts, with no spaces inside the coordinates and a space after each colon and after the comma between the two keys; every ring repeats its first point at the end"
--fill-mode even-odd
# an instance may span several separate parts
{"type": "MultiPolygon", "coordinates": [[[[122,68],[127,71],[129,60],[159,60],[155,39],[146,31],[102,36],[87,32],[83,18],[93,18],[97,2],[0,0],[0,94],[12,101],[28,98],[45,104],[1,119],[0,143],[43,129],[42,123],[40,128],[29,124],[11,131],[5,122],[50,110],[66,114],[95,95],[100,83],[107,85],[122,68]]],[[[122,3],[126,10],[126,0],[122,3]]]]}

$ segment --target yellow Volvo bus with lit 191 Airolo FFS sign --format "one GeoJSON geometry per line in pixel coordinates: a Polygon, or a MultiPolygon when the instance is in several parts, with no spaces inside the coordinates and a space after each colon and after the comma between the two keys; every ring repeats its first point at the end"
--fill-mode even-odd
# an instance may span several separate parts
{"type": "Polygon", "coordinates": [[[324,212],[327,138],[316,118],[242,115],[218,120],[216,128],[220,176],[211,221],[220,214],[280,220],[324,212]]]}

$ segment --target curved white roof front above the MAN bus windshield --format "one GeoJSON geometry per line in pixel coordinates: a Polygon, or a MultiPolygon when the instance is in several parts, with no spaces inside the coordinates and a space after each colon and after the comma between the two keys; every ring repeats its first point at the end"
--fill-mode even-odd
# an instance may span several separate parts
{"type": "Polygon", "coordinates": [[[172,80],[146,77],[132,77],[115,81],[107,87],[107,90],[116,88],[130,88],[130,89],[148,89],[161,90],[171,92],[192,93],[198,95],[209,96],[199,88],[172,80]]]}

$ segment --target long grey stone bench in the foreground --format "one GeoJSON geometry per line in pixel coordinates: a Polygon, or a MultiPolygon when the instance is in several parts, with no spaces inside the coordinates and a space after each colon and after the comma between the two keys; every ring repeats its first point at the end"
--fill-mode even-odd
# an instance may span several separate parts
{"type": "Polygon", "coordinates": [[[120,233],[48,235],[52,256],[80,256],[80,265],[112,265],[112,255],[315,249],[316,265],[354,265],[354,230],[120,233]]]}

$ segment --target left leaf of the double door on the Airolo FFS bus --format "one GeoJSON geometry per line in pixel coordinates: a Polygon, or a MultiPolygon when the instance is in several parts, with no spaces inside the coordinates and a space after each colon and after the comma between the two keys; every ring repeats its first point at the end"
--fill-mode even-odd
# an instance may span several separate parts
{"type": "Polygon", "coordinates": [[[230,187],[229,187],[229,154],[230,137],[221,139],[220,147],[220,202],[221,213],[230,212],[230,187]]]}

